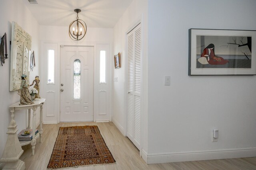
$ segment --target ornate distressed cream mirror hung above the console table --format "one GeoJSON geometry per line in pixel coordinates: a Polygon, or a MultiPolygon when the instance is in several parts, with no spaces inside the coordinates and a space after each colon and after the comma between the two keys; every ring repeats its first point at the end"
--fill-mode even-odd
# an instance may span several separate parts
{"type": "Polygon", "coordinates": [[[22,74],[26,74],[29,78],[28,53],[31,50],[31,39],[22,27],[12,21],[10,91],[20,88],[22,74]]]}

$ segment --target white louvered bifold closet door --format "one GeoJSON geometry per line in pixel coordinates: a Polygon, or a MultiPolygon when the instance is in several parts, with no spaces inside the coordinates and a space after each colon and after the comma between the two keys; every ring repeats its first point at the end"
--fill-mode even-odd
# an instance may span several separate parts
{"type": "Polygon", "coordinates": [[[127,34],[127,137],[140,149],[141,24],[127,34]]]}

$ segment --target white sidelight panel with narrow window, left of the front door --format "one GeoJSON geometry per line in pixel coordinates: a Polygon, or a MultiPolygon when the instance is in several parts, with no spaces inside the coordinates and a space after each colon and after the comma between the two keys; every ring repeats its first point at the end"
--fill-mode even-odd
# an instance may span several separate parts
{"type": "Polygon", "coordinates": [[[60,113],[58,43],[42,43],[42,56],[40,57],[41,74],[39,75],[40,96],[46,98],[43,120],[44,123],[58,123],[60,113]]]}

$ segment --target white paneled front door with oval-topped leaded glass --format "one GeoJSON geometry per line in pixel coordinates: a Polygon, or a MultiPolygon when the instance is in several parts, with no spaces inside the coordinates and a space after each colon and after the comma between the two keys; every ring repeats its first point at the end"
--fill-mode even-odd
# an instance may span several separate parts
{"type": "Polygon", "coordinates": [[[94,47],[60,48],[60,121],[93,121],[94,47]]]}

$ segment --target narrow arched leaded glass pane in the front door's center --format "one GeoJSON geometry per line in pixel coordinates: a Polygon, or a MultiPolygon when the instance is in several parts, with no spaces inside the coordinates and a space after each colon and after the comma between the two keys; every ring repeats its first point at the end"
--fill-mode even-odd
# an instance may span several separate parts
{"type": "Polygon", "coordinates": [[[74,61],[74,99],[80,99],[81,85],[81,62],[76,59],[74,61]]]}

